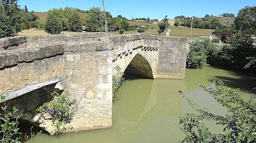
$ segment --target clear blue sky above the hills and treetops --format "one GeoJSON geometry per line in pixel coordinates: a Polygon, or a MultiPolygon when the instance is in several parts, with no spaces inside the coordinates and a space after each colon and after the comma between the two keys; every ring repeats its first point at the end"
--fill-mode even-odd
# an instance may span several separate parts
{"type": "MultiPolygon", "coordinates": [[[[256,6],[256,0],[104,0],[106,11],[115,17],[122,15],[128,19],[150,17],[163,19],[165,15],[173,19],[177,15],[204,17],[205,14],[218,15],[233,13],[245,6],[256,6]]],[[[101,0],[19,0],[18,4],[24,9],[45,12],[53,7],[76,7],[89,10],[91,7],[101,7],[101,0]]],[[[103,6],[102,6],[103,10],[103,6]]]]}

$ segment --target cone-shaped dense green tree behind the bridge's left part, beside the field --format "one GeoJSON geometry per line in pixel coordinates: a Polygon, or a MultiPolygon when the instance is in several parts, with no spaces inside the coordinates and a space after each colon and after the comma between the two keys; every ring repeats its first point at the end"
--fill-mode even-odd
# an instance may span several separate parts
{"type": "Polygon", "coordinates": [[[49,11],[46,17],[45,32],[48,34],[60,34],[62,31],[62,23],[55,11],[49,11]]]}

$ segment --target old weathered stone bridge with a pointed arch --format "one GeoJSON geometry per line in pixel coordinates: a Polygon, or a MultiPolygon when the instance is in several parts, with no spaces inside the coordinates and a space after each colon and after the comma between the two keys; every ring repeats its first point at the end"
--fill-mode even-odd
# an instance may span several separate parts
{"type": "MultiPolygon", "coordinates": [[[[147,34],[17,36],[0,39],[0,95],[34,122],[53,90],[76,99],[67,131],[112,126],[114,67],[146,78],[184,79],[187,38],[147,34]]],[[[47,123],[37,122],[48,132],[47,123]]]]}

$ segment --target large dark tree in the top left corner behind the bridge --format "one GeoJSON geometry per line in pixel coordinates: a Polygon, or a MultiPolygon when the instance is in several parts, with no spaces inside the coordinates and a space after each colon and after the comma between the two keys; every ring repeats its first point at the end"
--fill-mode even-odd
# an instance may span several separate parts
{"type": "Polygon", "coordinates": [[[24,22],[24,15],[18,0],[0,0],[0,38],[16,36],[21,31],[21,23],[24,22]]]}

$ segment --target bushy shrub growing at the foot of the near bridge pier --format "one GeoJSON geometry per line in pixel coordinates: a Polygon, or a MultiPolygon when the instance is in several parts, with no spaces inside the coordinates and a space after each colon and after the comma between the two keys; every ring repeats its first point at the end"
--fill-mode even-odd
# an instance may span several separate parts
{"type": "Polygon", "coordinates": [[[56,91],[52,93],[52,99],[42,106],[37,111],[42,118],[49,118],[53,121],[53,126],[56,127],[54,134],[61,134],[66,130],[65,125],[70,123],[73,117],[72,109],[76,100],[70,100],[65,94],[58,94],[56,91]]]}

